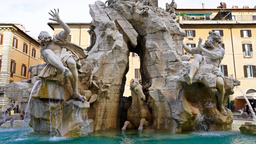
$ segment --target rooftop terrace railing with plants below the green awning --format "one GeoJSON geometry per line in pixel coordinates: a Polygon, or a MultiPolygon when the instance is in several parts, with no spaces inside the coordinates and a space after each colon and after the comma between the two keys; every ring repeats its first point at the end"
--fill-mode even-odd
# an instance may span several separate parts
{"type": "MultiPolygon", "coordinates": [[[[177,16],[176,20],[179,20],[177,16]]],[[[256,15],[183,15],[183,20],[255,20],[256,15]]]]}

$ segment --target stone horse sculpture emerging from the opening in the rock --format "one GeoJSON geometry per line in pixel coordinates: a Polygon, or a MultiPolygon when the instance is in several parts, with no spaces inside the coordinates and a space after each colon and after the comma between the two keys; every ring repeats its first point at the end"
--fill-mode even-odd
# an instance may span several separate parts
{"type": "Polygon", "coordinates": [[[150,109],[145,102],[146,96],[143,94],[142,86],[138,79],[133,79],[130,85],[132,94],[132,105],[127,111],[127,121],[124,122],[122,131],[138,128],[138,132],[149,129],[152,123],[150,109]]]}

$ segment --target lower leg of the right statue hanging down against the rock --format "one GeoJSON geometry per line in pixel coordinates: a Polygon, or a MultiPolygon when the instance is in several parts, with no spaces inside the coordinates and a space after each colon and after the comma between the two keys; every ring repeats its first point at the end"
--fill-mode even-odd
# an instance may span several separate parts
{"type": "Polygon", "coordinates": [[[221,76],[217,76],[216,78],[216,87],[218,89],[217,97],[218,97],[218,106],[220,109],[220,113],[224,116],[227,116],[228,113],[223,107],[223,98],[225,94],[225,89],[224,89],[224,80],[221,76]]]}

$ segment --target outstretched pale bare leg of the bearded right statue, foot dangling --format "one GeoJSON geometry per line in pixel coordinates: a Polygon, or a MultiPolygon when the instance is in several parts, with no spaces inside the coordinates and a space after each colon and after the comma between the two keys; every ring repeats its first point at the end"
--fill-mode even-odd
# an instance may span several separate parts
{"type": "Polygon", "coordinates": [[[192,79],[196,74],[197,70],[199,69],[199,64],[203,61],[203,57],[201,55],[196,55],[195,60],[191,63],[189,74],[185,73],[183,75],[184,80],[187,82],[188,85],[192,85],[192,79]]]}

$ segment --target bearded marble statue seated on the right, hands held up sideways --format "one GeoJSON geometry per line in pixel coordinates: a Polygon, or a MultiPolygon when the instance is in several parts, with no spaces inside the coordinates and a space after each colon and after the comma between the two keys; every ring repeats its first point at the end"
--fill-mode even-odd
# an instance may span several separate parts
{"type": "Polygon", "coordinates": [[[218,65],[221,63],[221,60],[224,57],[225,49],[219,47],[218,44],[221,43],[221,36],[217,32],[209,31],[208,39],[205,41],[205,44],[202,45],[202,39],[199,38],[198,46],[191,48],[183,42],[183,48],[186,52],[190,54],[199,54],[196,55],[195,60],[190,65],[189,73],[183,75],[184,80],[188,85],[192,85],[192,79],[196,74],[199,67],[205,63],[212,65],[212,73],[216,77],[216,87],[218,89],[218,107],[220,113],[224,116],[227,116],[227,111],[223,107],[223,98],[225,94],[224,89],[224,74],[218,69],[218,65]]]}

